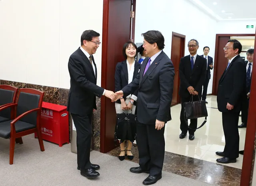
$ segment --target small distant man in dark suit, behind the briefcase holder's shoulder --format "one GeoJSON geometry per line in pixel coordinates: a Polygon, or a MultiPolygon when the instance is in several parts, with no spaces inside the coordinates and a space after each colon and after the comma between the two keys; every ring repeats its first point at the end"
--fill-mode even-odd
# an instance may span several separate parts
{"type": "Polygon", "coordinates": [[[211,56],[208,56],[208,53],[210,51],[210,48],[208,46],[204,47],[204,54],[202,55],[202,57],[206,58],[207,62],[206,62],[206,77],[205,77],[205,81],[203,84],[203,93],[202,93],[202,100],[204,100],[206,103],[208,103],[206,101],[206,95],[207,95],[207,88],[208,88],[208,84],[209,84],[209,80],[211,78],[211,72],[210,70],[213,69],[213,59],[211,56]]]}

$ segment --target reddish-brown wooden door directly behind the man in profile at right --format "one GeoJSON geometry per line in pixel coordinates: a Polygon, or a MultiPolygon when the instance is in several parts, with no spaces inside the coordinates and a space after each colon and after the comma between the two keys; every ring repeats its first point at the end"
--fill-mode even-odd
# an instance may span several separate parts
{"type": "Polygon", "coordinates": [[[223,48],[230,40],[230,36],[216,36],[215,58],[214,58],[214,75],[212,84],[212,94],[217,95],[218,82],[222,76],[224,70],[228,65],[228,59],[225,58],[223,48]]]}

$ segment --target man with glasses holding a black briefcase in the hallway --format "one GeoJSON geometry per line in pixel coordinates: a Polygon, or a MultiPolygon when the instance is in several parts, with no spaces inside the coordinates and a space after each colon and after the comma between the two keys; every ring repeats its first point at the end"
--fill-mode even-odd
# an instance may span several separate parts
{"type": "Polygon", "coordinates": [[[190,128],[188,128],[184,118],[184,103],[189,102],[191,96],[194,96],[193,101],[201,100],[202,86],[206,76],[206,59],[197,55],[199,43],[192,39],[188,42],[188,50],[190,55],[180,59],[179,73],[180,73],[180,139],[186,137],[189,132],[189,140],[194,140],[194,132],[196,130],[190,128],[197,128],[197,119],[190,120],[190,128]]]}

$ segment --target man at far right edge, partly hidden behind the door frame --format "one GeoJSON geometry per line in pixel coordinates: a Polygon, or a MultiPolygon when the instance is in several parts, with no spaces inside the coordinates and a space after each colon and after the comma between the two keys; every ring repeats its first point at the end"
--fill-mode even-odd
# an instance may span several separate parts
{"type": "Polygon", "coordinates": [[[253,62],[254,49],[249,49],[246,52],[246,57],[248,61],[245,61],[246,66],[246,98],[242,104],[242,124],[238,125],[238,128],[246,128],[247,118],[248,118],[248,108],[249,108],[249,98],[251,90],[252,81],[252,62],[253,62]]]}

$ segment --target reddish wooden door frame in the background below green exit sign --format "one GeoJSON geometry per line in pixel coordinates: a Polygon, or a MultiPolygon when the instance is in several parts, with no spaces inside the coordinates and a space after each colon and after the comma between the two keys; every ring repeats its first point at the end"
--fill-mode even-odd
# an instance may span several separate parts
{"type": "Polygon", "coordinates": [[[212,95],[217,95],[216,84],[218,84],[218,80],[216,79],[217,74],[217,66],[218,66],[218,44],[219,38],[223,36],[255,36],[255,34],[216,34],[216,42],[215,42],[215,55],[214,55],[214,72],[213,72],[213,81],[212,81],[212,95]]]}

